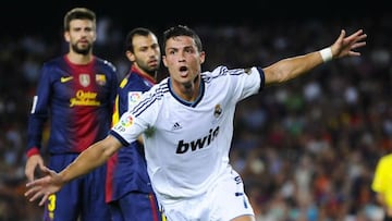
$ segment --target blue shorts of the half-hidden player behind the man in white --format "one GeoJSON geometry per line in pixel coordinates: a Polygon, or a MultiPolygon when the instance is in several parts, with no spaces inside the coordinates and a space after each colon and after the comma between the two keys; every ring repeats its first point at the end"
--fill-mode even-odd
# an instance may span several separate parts
{"type": "Polygon", "coordinates": [[[154,194],[130,192],[109,204],[111,221],[164,221],[154,194]]]}

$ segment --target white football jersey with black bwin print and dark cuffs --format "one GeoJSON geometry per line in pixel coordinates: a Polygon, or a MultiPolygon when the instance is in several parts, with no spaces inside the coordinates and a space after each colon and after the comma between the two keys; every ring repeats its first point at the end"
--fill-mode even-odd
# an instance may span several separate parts
{"type": "Polygon", "coordinates": [[[204,72],[200,95],[187,102],[170,78],[143,94],[111,134],[124,146],[143,133],[147,169],[160,200],[206,193],[229,165],[236,103],[265,85],[261,69],[204,72]]]}

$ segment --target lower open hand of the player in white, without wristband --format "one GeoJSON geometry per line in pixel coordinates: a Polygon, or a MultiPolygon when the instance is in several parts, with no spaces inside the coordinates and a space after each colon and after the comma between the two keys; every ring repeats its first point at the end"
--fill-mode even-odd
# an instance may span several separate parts
{"type": "Polygon", "coordinates": [[[39,206],[45,205],[48,197],[51,194],[54,194],[60,191],[64,184],[61,180],[61,176],[53,170],[48,169],[47,167],[41,168],[44,177],[30,181],[26,184],[27,191],[25,197],[29,198],[29,201],[34,201],[41,197],[39,206]]]}

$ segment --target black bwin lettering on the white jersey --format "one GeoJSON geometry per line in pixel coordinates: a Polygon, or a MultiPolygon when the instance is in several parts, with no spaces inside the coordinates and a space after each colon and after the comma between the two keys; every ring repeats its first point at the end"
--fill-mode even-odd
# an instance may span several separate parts
{"type": "Polygon", "coordinates": [[[203,149],[206,146],[209,146],[211,142],[218,136],[219,134],[219,126],[215,130],[210,128],[209,134],[205,137],[198,138],[196,140],[192,140],[189,143],[184,142],[184,139],[181,139],[179,142],[177,148],[175,150],[175,154],[185,154],[191,149],[191,151],[195,151],[198,149],[203,149]]]}

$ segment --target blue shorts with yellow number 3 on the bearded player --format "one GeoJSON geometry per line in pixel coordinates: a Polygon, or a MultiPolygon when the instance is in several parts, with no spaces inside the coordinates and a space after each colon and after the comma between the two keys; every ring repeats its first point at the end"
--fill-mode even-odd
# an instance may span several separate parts
{"type": "MultiPolygon", "coordinates": [[[[78,155],[52,155],[49,168],[59,172],[78,155]]],[[[109,206],[105,202],[106,164],[65,184],[49,197],[44,211],[45,221],[108,221],[109,206]]]]}

